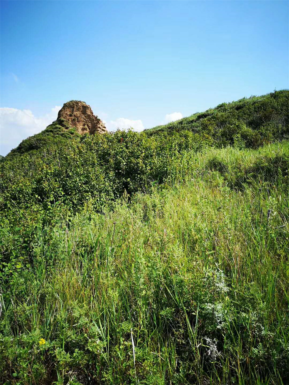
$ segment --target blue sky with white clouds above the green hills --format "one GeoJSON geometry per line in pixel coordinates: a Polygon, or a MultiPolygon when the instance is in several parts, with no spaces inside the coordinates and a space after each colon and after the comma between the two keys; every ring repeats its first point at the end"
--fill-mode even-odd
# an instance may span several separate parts
{"type": "Polygon", "coordinates": [[[1,148],[84,100],[137,131],[289,87],[287,1],[1,1],[1,148]]]}

